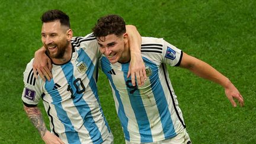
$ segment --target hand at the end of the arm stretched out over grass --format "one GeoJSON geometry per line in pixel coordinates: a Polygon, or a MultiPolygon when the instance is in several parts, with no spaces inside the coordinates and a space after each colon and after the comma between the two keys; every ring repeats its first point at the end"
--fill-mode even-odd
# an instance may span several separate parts
{"type": "Polygon", "coordinates": [[[233,105],[233,107],[236,107],[236,103],[233,100],[233,98],[238,100],[238,103],[241,107],[244,106],[244,98],[242,97],[238,89],[236,89],[236,87],[231,82],[228,84],[227,87],[225,87],[225,94],[226,97],[228,97],[231,104],[233,105]]]}

